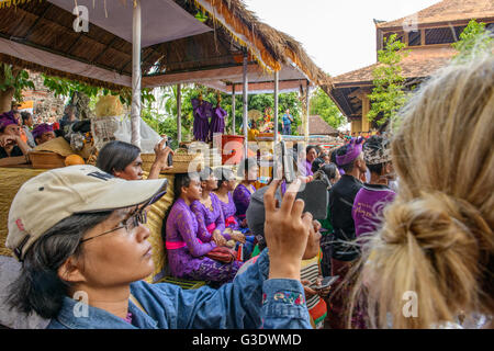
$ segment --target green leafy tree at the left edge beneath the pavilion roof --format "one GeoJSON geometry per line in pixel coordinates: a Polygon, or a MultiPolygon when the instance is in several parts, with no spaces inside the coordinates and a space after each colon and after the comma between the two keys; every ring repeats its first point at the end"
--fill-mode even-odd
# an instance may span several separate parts
{"type": "Polygon", "coordinates": [[[26,88],[34,89],[26,70],[0,63],[0,113],[11,110],[12,99],[21,102],[22,91],[26,88]]]}

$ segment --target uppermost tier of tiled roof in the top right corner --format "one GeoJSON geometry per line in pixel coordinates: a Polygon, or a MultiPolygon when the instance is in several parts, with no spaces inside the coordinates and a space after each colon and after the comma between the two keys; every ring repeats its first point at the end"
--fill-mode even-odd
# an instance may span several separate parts
{"type": "Polygon", "coordinates": [[[470,19],[494,16],[493,0],[444,0],[414,14],[390,22],[381,22],[378,29],[402,26],[404,23],[417,21],[417,24],[451,22],[470,19]]]}

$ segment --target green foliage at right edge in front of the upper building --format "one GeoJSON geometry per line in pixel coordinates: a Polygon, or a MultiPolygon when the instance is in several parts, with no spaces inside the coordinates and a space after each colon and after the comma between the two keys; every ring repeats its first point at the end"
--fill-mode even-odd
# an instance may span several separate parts
{"type": "Polygon", "coordinates": [[[485,23],[478,23],[475,20],[471,20],[460,34],[460,39],[457,43],[452,43],[451,46],[458,50],[458,54],[452,59],[453,63],[462,64],[478,56],[492,55],[494,38],[485,30],[485,23]]]}

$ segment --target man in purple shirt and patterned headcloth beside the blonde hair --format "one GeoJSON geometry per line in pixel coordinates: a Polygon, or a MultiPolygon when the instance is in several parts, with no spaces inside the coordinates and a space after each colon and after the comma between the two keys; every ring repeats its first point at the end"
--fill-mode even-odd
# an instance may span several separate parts
{"type": "Polygon", "coordinates": [[[371,136],[363,144],[363,160],[371,179],[363,184],[353,201],[351,216],[357,237],[378,229],[384,207],[395,196],[395,192],[389,186],[389,181],[394,178],[389,140],[379,135],[371,136]]]}

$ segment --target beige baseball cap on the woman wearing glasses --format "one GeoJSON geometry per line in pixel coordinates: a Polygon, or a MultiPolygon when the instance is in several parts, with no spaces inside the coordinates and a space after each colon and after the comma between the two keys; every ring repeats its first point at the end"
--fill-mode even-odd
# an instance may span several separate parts
{"type": "Polygon", "coordinates": [[[43,172],[19,189],[9,212],[7,247],[19,260],[44,233],[74,214],[113,211],[154,202],[167,180],[126,181],[78,165],[43,172]]]}

